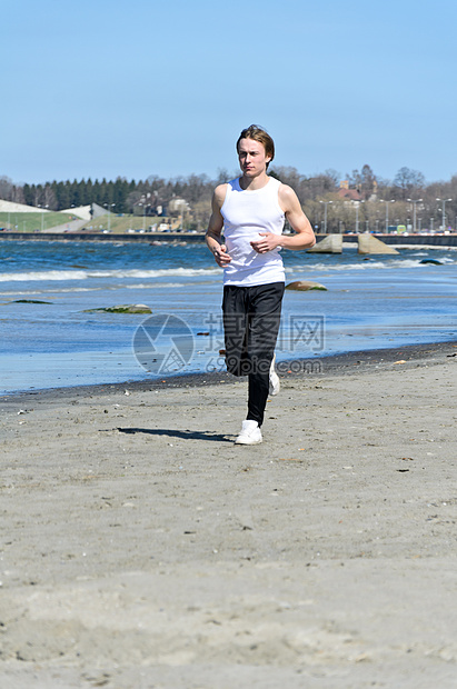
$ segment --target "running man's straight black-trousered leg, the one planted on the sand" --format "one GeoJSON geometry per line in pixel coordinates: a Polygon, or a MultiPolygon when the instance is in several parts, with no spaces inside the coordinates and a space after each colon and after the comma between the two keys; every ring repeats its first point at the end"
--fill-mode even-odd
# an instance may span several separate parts
{"type": "Polygon", "coordinates": [[[248,359],[249,393],[247,420],[264,422],[269,393],[269,372],[281,318],[284,282],[250,289],[248,359]]]}

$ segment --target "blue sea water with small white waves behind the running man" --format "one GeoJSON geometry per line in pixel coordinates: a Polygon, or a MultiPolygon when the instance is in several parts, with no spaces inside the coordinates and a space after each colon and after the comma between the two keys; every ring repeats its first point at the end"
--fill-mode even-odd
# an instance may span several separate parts
{"type": "MultiPolygon", "coordinates": [[[[455,250],[282,257],[327,291],[286,291],[279,362],[456,338],[455,250]]],[[[203,242],[0,241],[0,392],[223,370],[221,294],[203,242]]]]}

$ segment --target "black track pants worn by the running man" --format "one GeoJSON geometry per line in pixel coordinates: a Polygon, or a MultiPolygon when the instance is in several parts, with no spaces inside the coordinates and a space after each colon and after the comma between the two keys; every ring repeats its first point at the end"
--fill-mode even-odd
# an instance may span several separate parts
{"type": "Polygon", "coordinates": [[[269,371],[281,318],[285,283],[223,288],[227,370],[249,377],[247,419],[264,422],[269,371]]]}

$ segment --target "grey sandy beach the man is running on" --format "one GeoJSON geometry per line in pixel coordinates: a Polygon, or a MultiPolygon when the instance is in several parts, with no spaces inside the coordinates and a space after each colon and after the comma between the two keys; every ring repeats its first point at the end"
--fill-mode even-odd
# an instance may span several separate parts
{"type": "Polygon", "coordinates": [[[456,365],[1,398],[0,686],[454,689],[456,365]]]}

